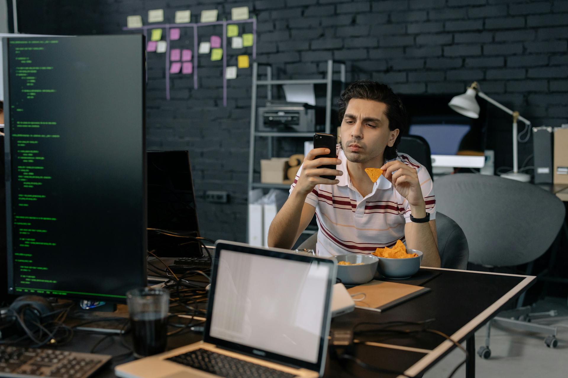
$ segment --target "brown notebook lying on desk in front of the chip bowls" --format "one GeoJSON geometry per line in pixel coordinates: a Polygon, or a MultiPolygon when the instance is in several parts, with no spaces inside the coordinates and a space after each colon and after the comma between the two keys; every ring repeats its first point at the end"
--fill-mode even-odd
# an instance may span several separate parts
{"type": "Polygon", "coordinates": [[[375,280],[347,290],[353,297],[356,308],[378,312],[385,311],[428,291],[430,289],[427,287],[375,280]]]}

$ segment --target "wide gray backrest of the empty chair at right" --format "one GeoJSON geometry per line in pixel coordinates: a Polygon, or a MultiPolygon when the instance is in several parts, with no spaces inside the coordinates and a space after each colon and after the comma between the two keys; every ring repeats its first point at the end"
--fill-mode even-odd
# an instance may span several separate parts
{"type": "Polygon", "coordinates": [[[460,225],[469,261],[515,266],[533,261],[550,247],[564,221],[564,205],[536,185],[458,173],[434,183],[436,210],[460,225]]]}

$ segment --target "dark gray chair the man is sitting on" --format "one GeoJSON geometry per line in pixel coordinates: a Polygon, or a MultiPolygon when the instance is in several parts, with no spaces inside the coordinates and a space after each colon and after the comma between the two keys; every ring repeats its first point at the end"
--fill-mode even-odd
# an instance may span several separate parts
{"type": "MultiPolygon", "coordinates": [[[[441,267],[466,269],[469,258],[467,239],[462,229],[449,216],[436,213],[436,233],[441,267]]],[[[316,249],[318,232],[299,245],[298,249],[316,249]]]]}

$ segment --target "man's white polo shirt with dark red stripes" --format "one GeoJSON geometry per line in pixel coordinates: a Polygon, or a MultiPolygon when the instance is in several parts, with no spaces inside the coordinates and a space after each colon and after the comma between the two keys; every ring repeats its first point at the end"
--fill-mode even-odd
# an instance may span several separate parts
{"type": "MultiPolygon", "coordinates": [[[[426,211],[430,213],[431,220],[436,219],[436,198],[428,170],[406,154],[397,155],[396,160],[416,169],[426,211]]],[[[316,253],[319,256],[369,254],[377,248],[392,247],[399,239],[406,244],[404,224],[410,222],[410,204],[406,198],[396,192],[385,176],[379,177],[370,194],[361,196],[351,183],[347,159],[339,145],[337,158],[341,160],[337,169],[344,172],[343,176],[336,177],[339,184],[316,185],[306,197],[306,203],[316,208],[319,227],[316,253]]],[[[301,171],[302,167],[290,187],[290,193],[301,171]]]]}

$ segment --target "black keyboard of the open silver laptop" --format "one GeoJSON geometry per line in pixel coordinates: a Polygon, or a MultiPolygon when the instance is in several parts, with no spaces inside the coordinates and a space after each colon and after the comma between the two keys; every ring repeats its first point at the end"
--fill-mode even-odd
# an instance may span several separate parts
{"type": "Polygon", "coordinates": [[[168,358],[168,360],[227,378],[289,378],[296,376],[294,374],[271,369],[269,367],[257,365],[252,362],[243,361],[238,358],[215,353],[206,349],[192,350],[190,352],[168,358]]]}

